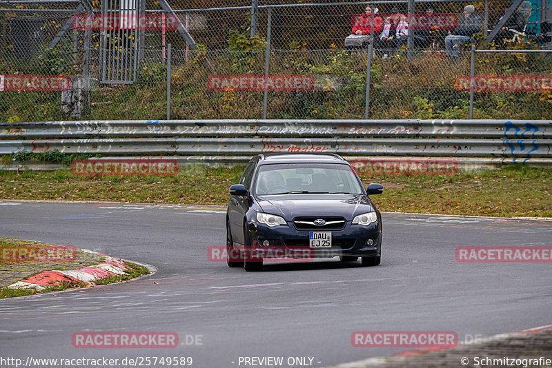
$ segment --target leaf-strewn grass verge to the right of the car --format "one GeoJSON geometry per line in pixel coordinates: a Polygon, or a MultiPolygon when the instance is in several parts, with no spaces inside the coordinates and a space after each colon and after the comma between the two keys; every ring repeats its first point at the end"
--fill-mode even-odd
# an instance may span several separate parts
{"type": "Polygon", "coordinates": [[[382,211],[552,217],[552,170],[522,165],[452,176],[362,177],[384,185],[382,211]]]}

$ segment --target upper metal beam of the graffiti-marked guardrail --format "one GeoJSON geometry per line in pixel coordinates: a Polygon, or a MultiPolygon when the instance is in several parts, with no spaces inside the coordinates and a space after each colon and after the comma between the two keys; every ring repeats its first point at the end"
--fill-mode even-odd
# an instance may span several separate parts
{"type": "Polygon", "coordinates": [[[552,138],[547,120],[137,120],[0,123],[0,139],[117,136],[552,138]]]}

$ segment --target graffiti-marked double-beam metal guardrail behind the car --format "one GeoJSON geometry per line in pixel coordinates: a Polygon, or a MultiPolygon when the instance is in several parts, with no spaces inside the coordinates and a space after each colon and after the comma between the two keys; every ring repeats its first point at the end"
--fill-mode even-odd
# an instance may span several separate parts
{"type": "Polygon", "coordinates": [[[335,152],[533,158],[552,156],[551,138],[552,121],[57,121],[0,123],[0,154],[21,150],[110,155],[335,152]],[[53,137],[71,139],[48,139],[53,137]]]}

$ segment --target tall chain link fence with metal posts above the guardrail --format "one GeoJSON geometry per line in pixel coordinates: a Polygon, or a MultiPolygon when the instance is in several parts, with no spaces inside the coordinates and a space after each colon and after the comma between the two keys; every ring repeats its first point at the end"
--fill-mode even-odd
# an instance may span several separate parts
{"type": "Polygon", "coordinates": [[[515,2],[491,43],[512,1],[477,1],[449,47],[467,1],[252,3],[0,1],[0,120],[166,119],[168,90],[170,119],[552,119],[550,54],[477,53],[470,88],[472,44],[550,48],[550,0],[515,2]]]}

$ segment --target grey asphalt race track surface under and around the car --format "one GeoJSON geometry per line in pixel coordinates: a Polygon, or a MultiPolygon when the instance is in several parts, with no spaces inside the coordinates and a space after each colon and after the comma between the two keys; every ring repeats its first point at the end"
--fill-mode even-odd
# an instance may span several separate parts
{"type": "Polygon", "coordinates": [[[3,237],[74,245],[153,265],[157,273],[0,300],[3,357],[191,356],[192,367],[230,368],[252,367],[239,365],[240,356],[283,356],[328,367],[404,350],[353,347],[353,331],[455,331],[462,342],[552,320],[551,263],[455,259],[465,245],[551,245],[552,221],[383,214],[380,266],[334,258],[247,273],[208,260],[208,247],[225,244],[223,209],[13,203],[0,203],[3,237]],[[78,331],[172,331],[180,345],[78,349],[71,343],[78,331]],[[186,345],[190,336],[198,344],[186,345]]]}

